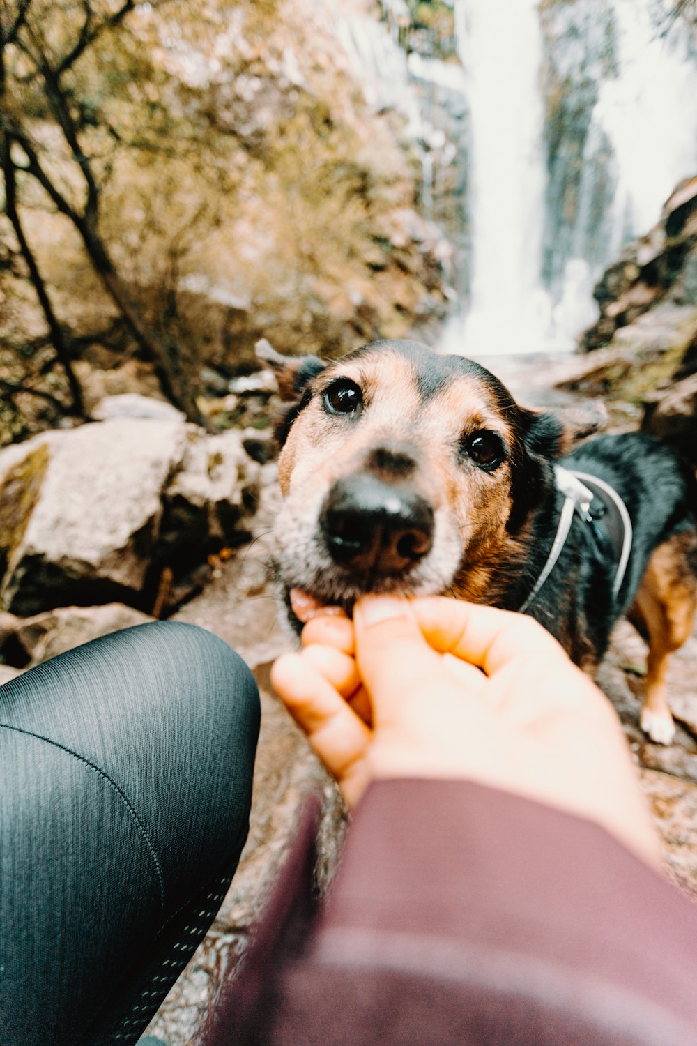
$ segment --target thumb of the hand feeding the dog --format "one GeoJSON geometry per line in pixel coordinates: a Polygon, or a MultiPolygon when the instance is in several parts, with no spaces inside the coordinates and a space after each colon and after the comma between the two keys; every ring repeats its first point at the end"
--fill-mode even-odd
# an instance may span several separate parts
{"type": "Polygon", "coordinates": [[[358,673],[375,722],[390,718],[405,693],[434,686],[441,658],[424,639],[408,599],[364,596],[353,608],[353,627],[358,673]]]}

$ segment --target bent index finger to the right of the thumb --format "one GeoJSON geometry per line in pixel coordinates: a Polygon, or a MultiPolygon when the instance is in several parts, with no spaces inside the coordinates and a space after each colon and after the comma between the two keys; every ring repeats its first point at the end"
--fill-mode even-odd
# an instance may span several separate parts
{"type": "Polygon", "coordinates": [[[489,676],[519,658],[567,661],[556,639],[524,614],[442,596],[413,599],[411,608],[434,650],[468,661],[489,676]]]}

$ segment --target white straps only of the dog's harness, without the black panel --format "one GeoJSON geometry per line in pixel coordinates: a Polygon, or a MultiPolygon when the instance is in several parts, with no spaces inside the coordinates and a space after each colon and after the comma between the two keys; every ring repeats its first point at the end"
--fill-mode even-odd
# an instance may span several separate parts
{"type": "Polygon", "coordinates": [[[533,586],[532,592],[519,608],[519,613],[521,614],[528,609],[544,582],[552,573],[552,570],[559,559],[559,553],[566,543],[568,531],[572,528],[572,522],[574,520],[574,513],[577,511],[581,519],[586,523],[593,524],[594,522],[593,517],[590,516],[590,503],[594,499],[594,493],[585,485],[583,480],[598,486],[611,500],[612,504],[617,507],[620,514],[624,526],[620,563],[614,574],[614,582],[612,583],[613,597],[617,597],[620,591],[622,582],[624,581],[625,571],[627,569],[627,563],[629,561],[632,540],[631,520],[629,519],[629,513],[627,511],[626,505],[617,491],[613,491],[612,487],[605,483],[602,479],[597,479],[596,476],[591,476],[585,472],[572,472],[570,469],[564,469],[560,464],[556,464],[554,467],[554,474],[557,488],[564,495],[564,503],[559,515],[557,532],[554,536],[550,554],[547,558],[547,562],[542,567],[539,577],[533,586]]]}

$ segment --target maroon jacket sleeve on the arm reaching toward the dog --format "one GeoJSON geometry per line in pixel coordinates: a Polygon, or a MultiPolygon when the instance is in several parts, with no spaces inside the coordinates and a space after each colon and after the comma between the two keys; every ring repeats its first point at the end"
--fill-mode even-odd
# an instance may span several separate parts
{"type": "Polygon", "coordinates": [[[264,1046],[697,1046],[697,909],[590,822],[380,781],[253,1023],[264,1046]]]}

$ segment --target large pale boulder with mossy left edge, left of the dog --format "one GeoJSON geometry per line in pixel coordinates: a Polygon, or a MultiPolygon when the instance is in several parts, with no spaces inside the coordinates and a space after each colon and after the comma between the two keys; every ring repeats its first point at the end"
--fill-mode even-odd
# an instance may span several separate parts
{"type": "Polygon", "coordinates": [[[136,418],[49,435],[41,445],[45,472],[18,521],[22,531],[11,535],[0,587],[0,604],[23,616],[141,590],[162,492],[186,444],[180,423],[136,418]]]}

